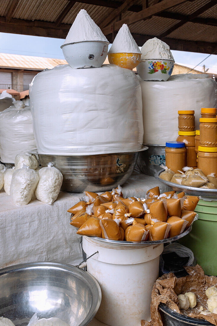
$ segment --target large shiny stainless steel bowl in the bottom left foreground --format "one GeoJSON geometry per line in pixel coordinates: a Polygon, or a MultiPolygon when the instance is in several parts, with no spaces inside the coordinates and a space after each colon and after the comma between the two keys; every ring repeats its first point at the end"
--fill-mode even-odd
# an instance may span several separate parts
{"type": "Polygon", "coordinates": [[[29,263],[0,270],[0,316],[16,326],[57,317],[71,326],[90,323],[99,309],[101,290],[89,273],[57,263],[29,263]]]}

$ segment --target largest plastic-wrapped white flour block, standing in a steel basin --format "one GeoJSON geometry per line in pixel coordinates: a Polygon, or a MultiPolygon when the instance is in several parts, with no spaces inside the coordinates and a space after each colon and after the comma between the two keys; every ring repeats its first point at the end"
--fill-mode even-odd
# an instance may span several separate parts
{"type": "Polygon", "coordinates": [[[104,154],[141,148],[141,87],[129,69],[57,66],[34,77],[30,101],[40,154],[104,154]]]}

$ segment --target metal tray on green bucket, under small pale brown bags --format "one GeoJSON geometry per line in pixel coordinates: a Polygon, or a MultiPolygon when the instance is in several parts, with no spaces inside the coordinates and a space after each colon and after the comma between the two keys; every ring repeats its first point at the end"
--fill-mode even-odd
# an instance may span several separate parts
{"type": "Polygon", "coordinates": [[[179,185],[174,182],[166,181],[164,179],[161,179],[159,175],[163,170],[160,170],[155,173],[154,177],[162,182],[165,185],[168,185],[170,188],[172,188],[175,191],[184,191],[186,194],[193,195],[193,196],[201,196],[204,198],[217,198],[217,189],[203,189],[203,188],[196,188],[196,187],[190,187],[187,185],[179,185]]]}

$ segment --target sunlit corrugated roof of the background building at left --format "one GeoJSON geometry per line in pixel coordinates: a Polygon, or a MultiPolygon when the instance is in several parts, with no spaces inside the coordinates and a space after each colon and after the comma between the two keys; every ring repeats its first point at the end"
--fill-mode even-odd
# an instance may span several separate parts
{"type": "Polygon", "coordinates": [[[30,55],[0,53],[0,67],[29,70],[51,69],[57,65],[67,65],[62,59],[33,57],[30,55]]]}

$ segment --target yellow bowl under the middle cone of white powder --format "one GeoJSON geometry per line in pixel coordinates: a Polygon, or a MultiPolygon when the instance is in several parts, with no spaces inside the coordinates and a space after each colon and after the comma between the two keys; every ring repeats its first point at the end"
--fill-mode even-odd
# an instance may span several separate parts
{"type": "Polygon", "coordinates": [[[108,53],[110,64],[131,70],[138,66],[140,59],[140,53],[108,53]]]}

